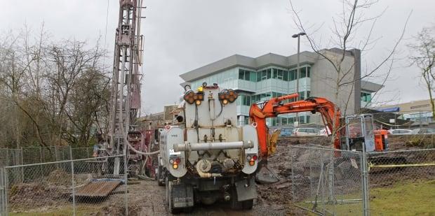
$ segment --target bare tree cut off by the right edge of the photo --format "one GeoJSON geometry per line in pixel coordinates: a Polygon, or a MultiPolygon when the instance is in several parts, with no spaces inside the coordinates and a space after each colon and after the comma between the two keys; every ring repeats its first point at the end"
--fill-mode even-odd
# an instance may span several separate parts
{"type": "Polygon", "coordinates": [[[425,27],[414,37],[414,43],[408,44],[410,48],[411,64],[417,66],[421,71],[421,78],[424,80],[429,99],[431,101],[432,118],[435,119],[435,103],[434,103],[434,82],[435,77],[432,73],[435,62],[435,26],[425,27]]]}

